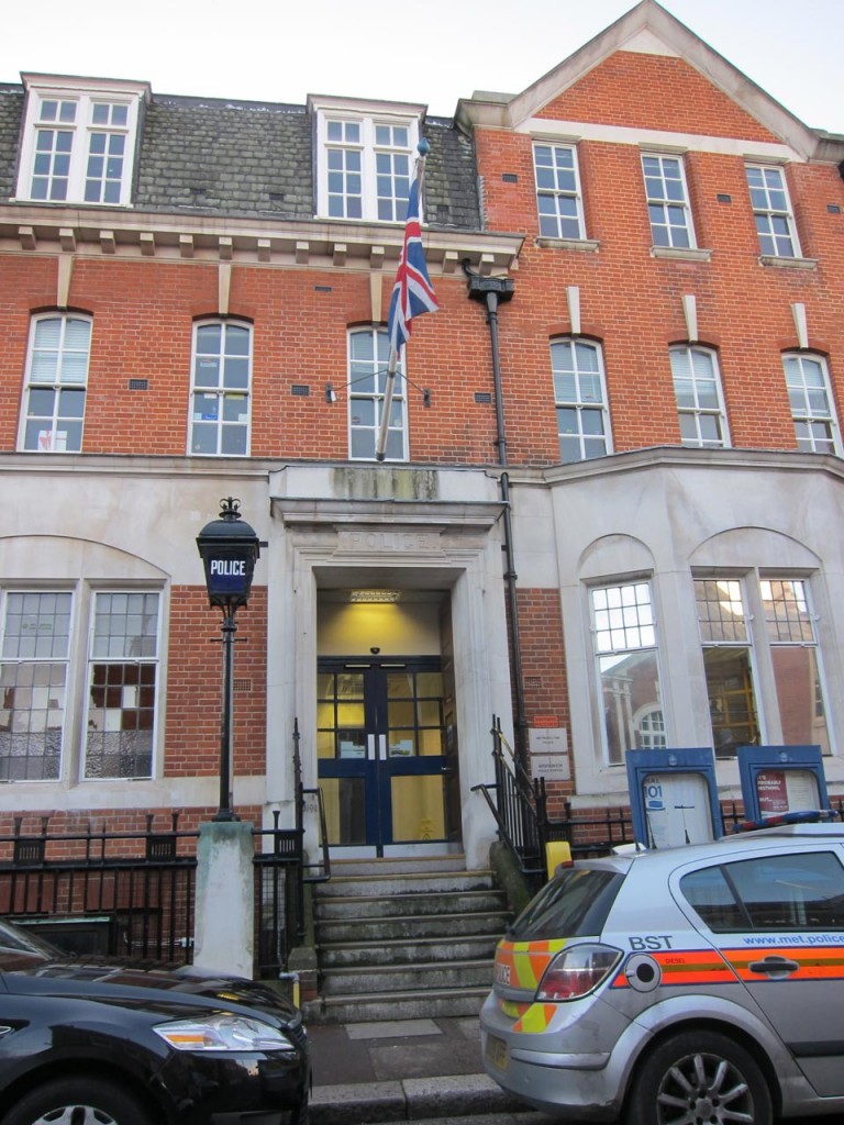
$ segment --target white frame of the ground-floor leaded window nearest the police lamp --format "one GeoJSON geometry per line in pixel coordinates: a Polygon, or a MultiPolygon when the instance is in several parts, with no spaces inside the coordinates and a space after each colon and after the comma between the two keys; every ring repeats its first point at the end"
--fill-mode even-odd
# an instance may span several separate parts
{"type": "MultiPolygon", "coordinates": [[[[90,624],[88,629],[88,652],[86,660],[86,705],[84,705],[84,721],[82,726],[82,746],[81,746],[81,777],[83,781],[89,782],[114,782],[114,781],[126,781],[126,780],[151,780],[155,776],[156,762],[158,762],[158,735],[159,726],[161,722],[161,675],[162,675],[162,660],[161,660],[161,642],[162,642],[162,614],[163,614],[163,591],[154,586],[143,586],[129,590],[123,588],[98,588],[91,591],[90,604],[89,604],[89,618],[90,624]],[[98,637],[96,633],[96,621],[97,621],[97,608],[100,598],[106,597],[155,597],[156,609],[155,609],[155,632],[154,632],[154,652],[135,652],[135,654],[116,654],[116,652],[102,652],[98,651],[98,637]],[[93,669],[96,665],[124,665],[124,666],[135,666],[138,668],[138,683],[136,685],[122,684],[122,685],[95,685],[92,682],[93,669]],[[150,730],[150,770],[149,772],[141,773],[117,773],[117,774],[90,774],[89,771],[89,750],[90,750],[90,738],[96,737],[97,734],[108,735],[108,734],[125,734],[123,726],[109,729],[109,724],[114,721],[116,712],[119,712],[119,717],[123,717],[124,711],[137,710],[142,711],[144,708],[142,704],[141,693],[142,684],[140,683],[140,669],[142,667],[153,667],[154,668],[154,687],[153,687],[153,724],[150,730]],[[101,708],[93,705],[92,694],[93,690],[97,687],[104,693],[104,705],[101,708]],[[110,700],[105,698],[107,692],[116,692],[119,687],[120,691],[120,703],[118,706],[111,704],[110,700]],[[132,693],[134,687],[137,706],[131,708],[125,706],[127,702],[127,692],[132,693]],[[109,705],[111,704],[111,705],[109,705]],[[102,726],[97,726],[101,723],[102,726]]],[[[129,614],[133,616],[136,614],[129,614]]],[[[140,634],[135,633],[122,633],[120,637],[134,638],[135,641],[138,640],[140,634]]],[[[144,633],[144,639],[150,638],[151,634],[144,633]]],[[[108,636],[109,644],[114,640],[114,634],[108,636]]],[[[143,647],[143,646],[142,646],[143,647]]],[[[149,646],[147,646],[149,647],[149,646]]]]}

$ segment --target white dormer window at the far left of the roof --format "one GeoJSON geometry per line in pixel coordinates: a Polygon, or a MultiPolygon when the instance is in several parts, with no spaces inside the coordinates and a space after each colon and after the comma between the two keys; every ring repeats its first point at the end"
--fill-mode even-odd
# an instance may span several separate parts
{"type": "Polygon", "coordinates": [[[24,83],[27,114],[17,198],[129,204],[138,105],[146,84],[26,74],[24,83]]]}

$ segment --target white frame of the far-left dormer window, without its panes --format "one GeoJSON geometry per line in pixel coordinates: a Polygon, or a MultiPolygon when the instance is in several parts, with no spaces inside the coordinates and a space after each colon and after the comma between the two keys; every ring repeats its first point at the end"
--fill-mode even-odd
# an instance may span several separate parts
{"type": "MultiPolygon", "coordinates": [[[[44,74],[24,74],[23,78],[27,99],[16,198],[54,206],[128,207],[132,204],[140,106],[143,100],[149,99],[149,84],[117,80],[92,81],[44,74]],[[73,120],[42,120],[42,110],[45,104],[53,102],[74,106],[73,120]],[[125,123],[96,122],[95,116],[99,116],[99,114],[95,107],[104,105],[125,107],[125,123]],[[66,161],[66,191],[61,198],[36,197],[33,191],[36,158],[38,156],[38,133],[51,130],[63,134],[66,156],[69,158],[66,161]],[[123,153],[119,154],[119,177],[111,178],[111,182],[119,183],[117,199],[86,199],[89,159],[97,161],[101,155],[91,152],[91,138],[95,134],[124,138],[123,153]]],[[[43,155],[44,153],[42,153],[43,155]]],[[[117,170],[117,154],[114,154],[113,172],[117,170]]],[[[43,160],[39,161],[41,163],[43,160]]],[[[51,169],[52,166],[51,162],[51,169]]]]}

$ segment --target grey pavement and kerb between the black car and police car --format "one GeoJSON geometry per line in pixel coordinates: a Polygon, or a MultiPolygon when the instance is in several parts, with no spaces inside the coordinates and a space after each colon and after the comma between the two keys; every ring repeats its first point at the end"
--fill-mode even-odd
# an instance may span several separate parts
{"type": "Polygon", "coordinates": [[[309,1024],[311,1125],[548,1122],[486,1076],[477,1018],[309,1024]]]}

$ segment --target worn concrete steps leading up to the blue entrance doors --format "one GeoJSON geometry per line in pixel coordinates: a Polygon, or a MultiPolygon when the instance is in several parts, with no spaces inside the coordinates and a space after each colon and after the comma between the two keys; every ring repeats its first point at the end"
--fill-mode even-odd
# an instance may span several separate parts
{"type": "Polygon", "coordinates": [[[370,860],[333,865],[314,892],[318,998],[306,1020],[477,1015],[511,917],[492,872],[454,856],[370,860]]]}

